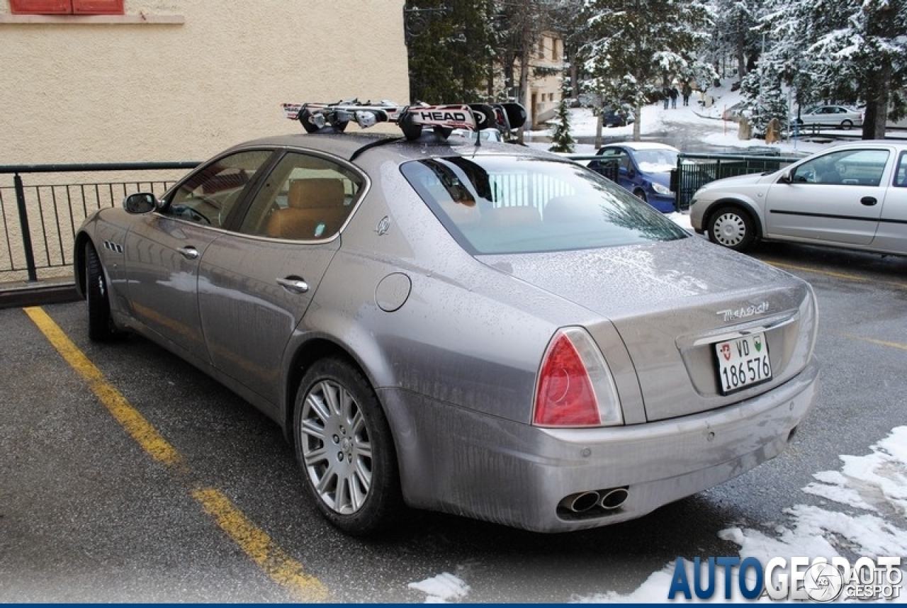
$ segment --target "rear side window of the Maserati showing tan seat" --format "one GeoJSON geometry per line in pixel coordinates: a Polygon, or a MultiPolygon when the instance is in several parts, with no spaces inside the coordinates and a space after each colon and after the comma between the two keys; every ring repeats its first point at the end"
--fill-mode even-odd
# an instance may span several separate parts
{"type": "Polygon", "coordinates": [[[337,162],[288,152],[268,175],[239,231],[275,239],[333,237],[363,190],[365,180],[337,162]]]}

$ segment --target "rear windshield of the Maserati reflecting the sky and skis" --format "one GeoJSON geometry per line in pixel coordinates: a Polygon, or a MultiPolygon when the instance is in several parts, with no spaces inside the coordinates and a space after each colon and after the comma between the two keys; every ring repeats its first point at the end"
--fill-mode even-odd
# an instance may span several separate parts
{"type": "Polygon", "coordinates": [[[689,236],[574,162],[457,156],[406,162],[401,171],[473,254],[596,249],[689,236]]]}

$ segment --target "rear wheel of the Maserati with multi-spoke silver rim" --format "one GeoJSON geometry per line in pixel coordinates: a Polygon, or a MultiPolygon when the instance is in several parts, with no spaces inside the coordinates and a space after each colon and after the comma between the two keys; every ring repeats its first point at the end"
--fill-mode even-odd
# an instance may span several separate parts
{"type": "Polygon", "coordinates": [[[393,525],[403,509],[394,441],[366,378],[343,360],[317,361],[293,421],[297,461],[327,521],[353,535],[393,525]]]}

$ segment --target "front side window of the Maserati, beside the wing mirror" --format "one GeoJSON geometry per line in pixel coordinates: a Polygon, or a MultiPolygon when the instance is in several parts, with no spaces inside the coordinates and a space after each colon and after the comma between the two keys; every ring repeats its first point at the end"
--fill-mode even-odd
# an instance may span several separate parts
{"type": "Polygon", "coordinates": [[[272,153],[238,152],[211,162],[177,186],[164,212],[215,228],[226,225],[230,211],[272,153]]]}

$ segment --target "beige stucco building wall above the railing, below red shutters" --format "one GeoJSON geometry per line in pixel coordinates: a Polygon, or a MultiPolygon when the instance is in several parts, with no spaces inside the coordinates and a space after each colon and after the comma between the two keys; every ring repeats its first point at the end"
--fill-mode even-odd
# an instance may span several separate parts
{"type": "Polygon", "coordinates": [[[11,15],[0,0],[0,165],[200,161],[301,132],[282,102],[408,103],[404,0],[126,0],[11,15]]]}

